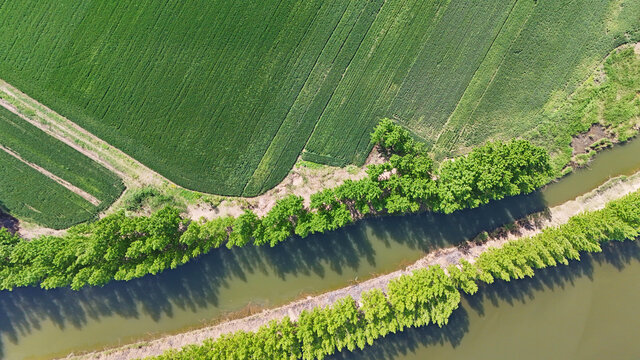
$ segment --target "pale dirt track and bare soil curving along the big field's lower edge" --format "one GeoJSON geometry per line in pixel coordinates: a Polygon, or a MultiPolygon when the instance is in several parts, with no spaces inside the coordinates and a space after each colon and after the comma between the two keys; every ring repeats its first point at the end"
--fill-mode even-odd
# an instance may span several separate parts
{"type": "MultiPolygon", "coordinates": [[[[0,80],[0,105],[122,179],[126,187],[125,193],[105,210],[105,214],[122,208],[132,214],[143,214],[171,204],[180,208],[193,220],[199,220],[201,217],[213,219],[228,215],[238,216],[247,208],[262,216],[274,206],[276,200],[285,195],[300,195],[308,202],[310,194],[326,187],[338,186],[345,180],[361,179],[366,175],[364,167],[335,168],[300,161],[280,184],[260,196],[235,198],[205,194],[172,183],[3,80],[0,80]]],[[[380,154],[373,151],[366,165],[381,161],[383,159],[380,154]]],[[[26,238],[54,233],[51,229],[25,222],[24,217],[22,220],[20,234],[26,238]]]]}

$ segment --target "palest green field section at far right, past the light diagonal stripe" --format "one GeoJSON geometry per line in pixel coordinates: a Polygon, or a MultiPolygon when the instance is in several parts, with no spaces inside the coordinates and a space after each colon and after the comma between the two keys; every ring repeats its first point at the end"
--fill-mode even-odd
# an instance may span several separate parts
{"type": "Polygon", "coordinates": [[[540,126],[611,50],[640,40],[637,1],[542,1],[528,12],[488,52],[441,130],[441,156],[540,126]]]}

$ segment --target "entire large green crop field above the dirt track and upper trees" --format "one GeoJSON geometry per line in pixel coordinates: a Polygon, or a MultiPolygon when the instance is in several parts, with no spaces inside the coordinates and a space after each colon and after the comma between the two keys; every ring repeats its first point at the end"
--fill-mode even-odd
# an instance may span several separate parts
{"type": "Polygon", "coordinates": [[[185,187],[362,163],[391,117],[439,157],[537,126],[638,1],[0,0],[0,77],[185,187]]]}

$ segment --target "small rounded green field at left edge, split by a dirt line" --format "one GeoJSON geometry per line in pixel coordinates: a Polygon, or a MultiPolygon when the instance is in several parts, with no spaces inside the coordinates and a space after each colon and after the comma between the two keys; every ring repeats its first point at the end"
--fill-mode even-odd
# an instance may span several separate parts
{"type": "Polygon", "coordinates": [[[80,152],[0,107],[0,145],[100,201],[94,206],[0,150],[0,206],[8,213],[62,229],[95,218],[124,191],[120,178],[80,152]]]}

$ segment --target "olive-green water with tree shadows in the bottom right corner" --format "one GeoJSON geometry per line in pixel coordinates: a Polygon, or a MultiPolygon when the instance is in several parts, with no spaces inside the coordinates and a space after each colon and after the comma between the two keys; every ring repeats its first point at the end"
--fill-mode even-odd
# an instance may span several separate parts
{"type": "Polygon", "coordinates": [[[330,359],[639,358],[640,346],[628,341],[640,320],[639,275],[640,242],[614,242],[602,253],[537,271],[533,278],[486,285],[465,296],[442,328],[390,334],[330,359]],[[621,346],[612,344],[615,338],[621,346]],[[620,356],[609,357],[614,351],[620,356]]]}

